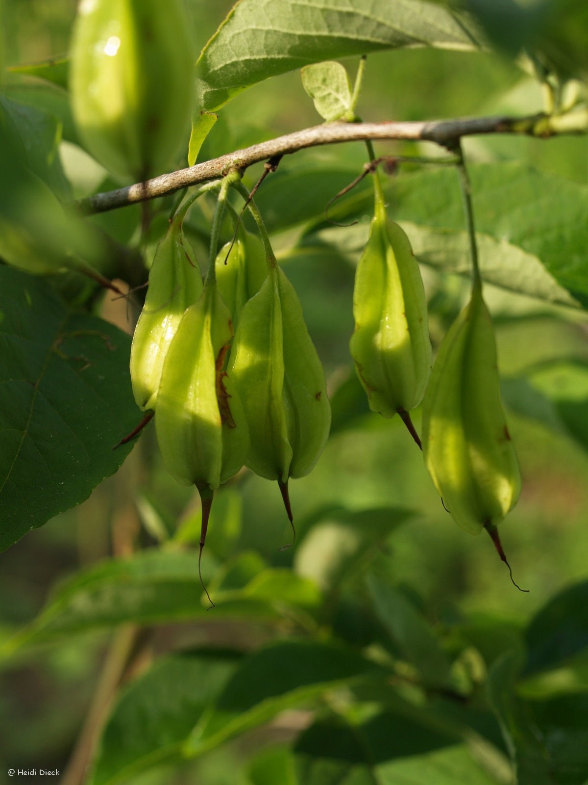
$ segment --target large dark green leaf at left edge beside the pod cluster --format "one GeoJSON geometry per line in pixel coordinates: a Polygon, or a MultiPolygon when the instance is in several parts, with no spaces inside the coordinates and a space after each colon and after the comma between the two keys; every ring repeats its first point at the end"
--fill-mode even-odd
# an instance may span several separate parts
{"type": "Polygon", "coordinates": [[[130,338],[68,311],[43,279],[0,267],[0,550],[113,474],[136,425],[130,338]]]}

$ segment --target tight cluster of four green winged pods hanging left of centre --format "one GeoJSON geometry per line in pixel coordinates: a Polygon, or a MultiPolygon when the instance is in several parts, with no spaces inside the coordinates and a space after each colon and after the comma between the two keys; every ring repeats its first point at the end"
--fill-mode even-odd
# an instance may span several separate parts
{"type": "Polygon", "coordinates": [[[278,481],[292,521],[289,478],[310,472],[331,424],[325,372],[255,206],[262,239],[240,226],[217,254],[238,177],[220,184],[204,283],[182,228],[194,199],[176,212],[131,351],[132,389],[141,408],[154,410],[165,467],[201,496],[201,551],[214,491],[244,465],[278,481]]]}

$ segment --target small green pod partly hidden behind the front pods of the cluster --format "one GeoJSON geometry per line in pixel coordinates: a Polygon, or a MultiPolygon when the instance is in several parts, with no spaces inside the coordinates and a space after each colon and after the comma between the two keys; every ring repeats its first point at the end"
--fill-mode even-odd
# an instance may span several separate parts
{"type": "Polygon", "coordinates": [[[216,257],[216,285],[236,331],[245,303],[257,294],[266,279],[267,261],[261,239],[247,230],[240,230],[227,257],[229,248],[227,243],[216,257]]]}

